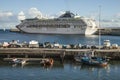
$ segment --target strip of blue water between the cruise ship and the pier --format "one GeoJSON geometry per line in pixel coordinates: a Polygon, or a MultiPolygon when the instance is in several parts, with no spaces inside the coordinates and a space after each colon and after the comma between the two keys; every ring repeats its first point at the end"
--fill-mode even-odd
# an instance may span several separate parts
{"type": "MultiPolygon", "coordinates": [[[[5,41],[12,41],[12,40],[19,40],[20,42],[30,40],[37,40],[40,43],[44,42],[58,42],[60,44],[87,44],[87,45],[98,45],[99,43],[99,36],[98,35],[91,35],[91,36],[84,36],[84,35],[42,35],[42,34],[27,34],[27,33],[15,33],[0,30],[0,42],[5,41]]],[[[117,43],[120,45],[120,36],[108,36],[102,35],[101,38],[101,45],[103,45],[104,40],[110,40],[112,44],[117,43]]]]}

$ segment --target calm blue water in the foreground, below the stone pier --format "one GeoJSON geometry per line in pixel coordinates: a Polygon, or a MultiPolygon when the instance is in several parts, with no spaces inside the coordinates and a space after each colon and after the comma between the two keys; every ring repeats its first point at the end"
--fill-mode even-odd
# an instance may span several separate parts
{"type": "Polygon", "coordinates": [[[64,61],[61,63],[57,60],[55,60],[53,66],[47,67],[37,63],[21,66],[0,62],[0,71],[3,72],[3,74],[1,74],[2,76],[10,75],[7,72],[16,74],[15,71],[17,71],[25,74],[21,74],[22,77],[33,74],[34,77],[37,78],[40,78],[39,75],[42,75],[42,79],[52,76],[52,80],[55,78],[54,76],[56,76],[58,80],[118,80],[120,78],[118,75],[120,74],[120,61],[110,61],[109,65],[105,67],[82,65],[74,61],[64,61]]]}

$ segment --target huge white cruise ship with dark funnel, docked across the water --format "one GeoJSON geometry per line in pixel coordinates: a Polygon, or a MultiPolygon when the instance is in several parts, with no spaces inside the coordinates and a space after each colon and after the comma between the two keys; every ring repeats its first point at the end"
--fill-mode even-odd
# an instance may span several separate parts
{"type": "Polygon", "coordinates": [[[70,11],[54,19],[25,19],[16,27],[25,33],[40,34],[92,35],[97,31],[95,20],[77,16],[70,11]]]}

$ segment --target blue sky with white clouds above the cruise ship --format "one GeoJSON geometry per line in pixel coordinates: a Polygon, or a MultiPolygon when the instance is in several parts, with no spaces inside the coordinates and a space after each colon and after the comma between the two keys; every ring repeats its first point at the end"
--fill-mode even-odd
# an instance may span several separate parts
{"type": "Polygon", "coordinates": [[[100,14],[102,27],[120,27],[120,0],[0,0],[0,28],[15,28],[25,18],[58,17],[65,11],[96,22],[100,14]]]}

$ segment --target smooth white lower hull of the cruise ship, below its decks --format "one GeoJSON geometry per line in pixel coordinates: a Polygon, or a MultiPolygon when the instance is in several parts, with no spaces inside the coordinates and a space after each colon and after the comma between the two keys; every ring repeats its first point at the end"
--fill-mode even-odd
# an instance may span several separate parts
{"type": "Polygon", "coordinates": [[[82,35],[91,35],[94,34],[97,29],[71,29],[71,28],[26,28],[23,27],[20,29],[22,32],[25,33],[40,33],[40,34],[82,34],[82,35]]]}

